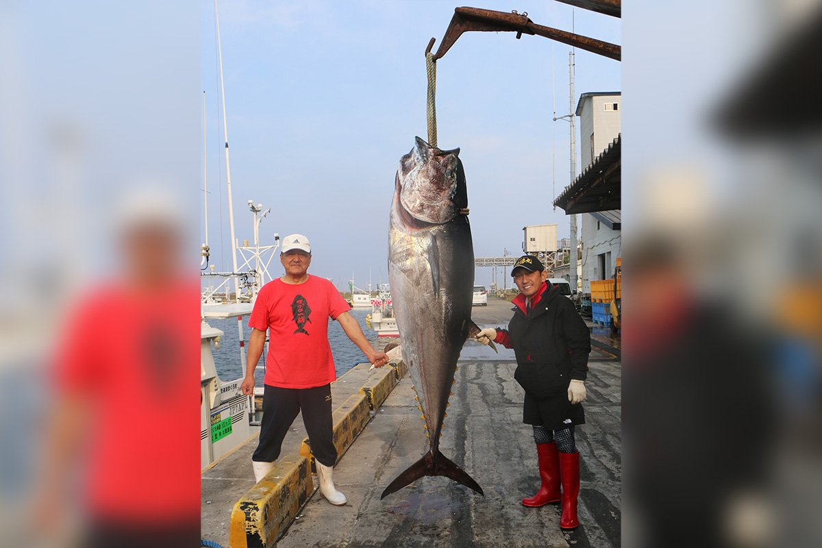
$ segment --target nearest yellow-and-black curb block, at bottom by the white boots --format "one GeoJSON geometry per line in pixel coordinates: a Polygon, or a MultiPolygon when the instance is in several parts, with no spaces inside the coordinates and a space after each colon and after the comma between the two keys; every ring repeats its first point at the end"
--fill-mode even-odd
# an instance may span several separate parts
{"type": "Polygon", "coordinates": [[[266,477],[234,504],[229,546],[274,546],[313,490],[314,483],[306,458],[279,458],[266,477]]]}

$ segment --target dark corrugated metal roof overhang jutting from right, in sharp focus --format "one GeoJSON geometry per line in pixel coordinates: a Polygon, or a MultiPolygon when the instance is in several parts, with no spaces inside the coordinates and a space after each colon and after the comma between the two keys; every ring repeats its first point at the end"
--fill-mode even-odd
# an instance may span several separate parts
{"type": "Polygon", "coordinates": [[[556,197],[554,205],[565,210],[568,215],[621,209],[621,133],[556,197]]]}

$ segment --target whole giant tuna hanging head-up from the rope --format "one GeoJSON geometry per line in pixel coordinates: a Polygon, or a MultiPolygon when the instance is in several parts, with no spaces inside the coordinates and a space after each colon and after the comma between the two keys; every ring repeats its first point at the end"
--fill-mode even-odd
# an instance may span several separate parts
{"type": "Polygon", "coordinates": [[[423,476],[445,476],[483,490],[439,450],[442,421],[459,351],[471,322],[473,245],[459,149],[439,150],[419,137],[399,160],[389,230],[388,275],[403,360],[417,391],[430,450],[382,497],[423,476]]]}

